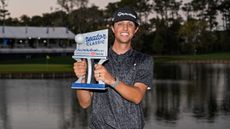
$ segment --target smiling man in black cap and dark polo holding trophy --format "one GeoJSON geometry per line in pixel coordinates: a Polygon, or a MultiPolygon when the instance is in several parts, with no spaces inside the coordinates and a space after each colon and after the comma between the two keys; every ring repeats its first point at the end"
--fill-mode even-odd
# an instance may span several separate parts
{"type": "MultiPolygon", "coordinates": [[[[76,90],[83,108],[92,105],[92,129],[142,129],[144,116],[141,101],[148,87],[152,87],[153,60],[151,56],[132,49],[131,41],[138,31],[135,11],[118,9],[112,18],[114,44],[109,49],[108,61],[96,64],[94,78],[108,86],[105,91],[76,90]]],[[[86,61],[74,63],[77,77],[85,76],[86,61]]]]}

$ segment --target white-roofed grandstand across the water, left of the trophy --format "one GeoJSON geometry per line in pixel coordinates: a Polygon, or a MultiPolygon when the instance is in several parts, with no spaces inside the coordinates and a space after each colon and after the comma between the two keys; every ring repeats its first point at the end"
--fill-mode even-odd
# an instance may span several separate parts
{"type": "Polygon", "coordinates": [[[0,26],[0,53],[72,53],[74,36],[66,27],[0,26]]]}

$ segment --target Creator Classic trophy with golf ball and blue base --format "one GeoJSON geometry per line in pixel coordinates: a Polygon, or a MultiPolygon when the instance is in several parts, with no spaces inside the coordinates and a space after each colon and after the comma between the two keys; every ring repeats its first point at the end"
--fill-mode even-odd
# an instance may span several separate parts
{"type": "Polygon", "coordinates": [[[72,83],[72,89],[94,89],[105,90],[103,81],[92,83],[91,78],[93,74],[92,60],[98,59],[98,64],[103,64],[107,60],[108,55],[108,29],[77,34],[75,36],[76,49],[74,51],[73,59],[81,61],[85,58],[87,60],[87,78],[86,83],[81,83],[83,77],[79,77],[77,81],[72,83]]]}

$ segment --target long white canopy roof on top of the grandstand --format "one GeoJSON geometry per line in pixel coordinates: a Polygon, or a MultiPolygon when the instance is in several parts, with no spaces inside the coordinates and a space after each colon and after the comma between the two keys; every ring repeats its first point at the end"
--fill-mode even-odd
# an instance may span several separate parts
{"type": "Polygon", "coordinates": [[[0,26],[0,38],[12,39],[74,39],[66,27],[0,26]]]}

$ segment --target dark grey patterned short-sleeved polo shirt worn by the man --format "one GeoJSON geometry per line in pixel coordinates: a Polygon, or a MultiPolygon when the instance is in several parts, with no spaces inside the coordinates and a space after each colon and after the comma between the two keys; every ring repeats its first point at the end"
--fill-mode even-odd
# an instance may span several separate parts
{"type": "MultiPolygon", "coordinates": [[[[133,86],[136,82],[152,87],[153,60],[151,56],[130,49],[123,55],[117,55],[109,49],[106,69],[119,80],[133,86]]],[[[144,116],[141,104],[124,99],[113,88],[95,91],[90,114],[92,129],[142,129],[144,116]]]]}

